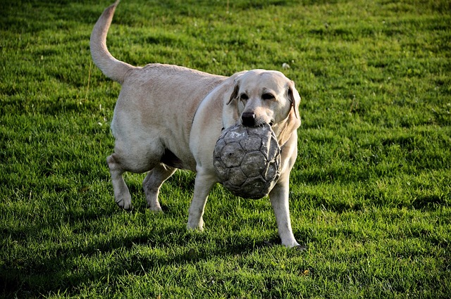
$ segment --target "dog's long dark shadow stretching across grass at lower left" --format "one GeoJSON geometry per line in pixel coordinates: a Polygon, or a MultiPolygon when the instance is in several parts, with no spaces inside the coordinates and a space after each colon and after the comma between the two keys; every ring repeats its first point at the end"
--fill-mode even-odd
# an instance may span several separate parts
{"type": "MultiPolygon", "coordinates": [[[[143,214],[141,211],[131,213],[143,214]]],[[[87,233],[91,237],[94,232],[90,231],[90,223],[111,222],[115,215],[117,216],[116,213],[99,215],[91,212],[78,215],[78,219],[72,219],[68,225],[81,226],[77,229],[78,233],[87,233]]],[[[166,214],[168,217],[170,215],[171,213],[166,214]]],[[[24,240],[22,245],[26,246],[26,240],[30,236],[39,235],[39,231],[52,226],[58,227],[61,223],[55,221],[40,227],[6,229],[1,234],[11,236],[14,240],[24,240]]],[[[108,232],[102,230],[101,234],[108,232]]],[[[190,232],[184,225],[177,223],[152,227],[132,236],[106,235],[106,238],[95,240],[82,244],[73,244],[76,241],[72,238],[66,243],[53,241],[50,245],[43,245],[44,249],[35,256],[30,256],[30,253],[36,253],[36,249],[21,250],[17,257],[10,257],[11,260],[5,260],[0,265],[0,297],[32,298],[52,293],[77,295],[86,286],[112,284],[115,277],[124,274],[144,276],[162,266],[183,267],[215,257],[247,255],[278,243],[276,236],[269,241],[255,242],[235,234],[212,236],[190,232]],[[215,246],[211,246],[211,243],[215,246]],[[111,277],[111,280],[107,277],[111,277]]]]}

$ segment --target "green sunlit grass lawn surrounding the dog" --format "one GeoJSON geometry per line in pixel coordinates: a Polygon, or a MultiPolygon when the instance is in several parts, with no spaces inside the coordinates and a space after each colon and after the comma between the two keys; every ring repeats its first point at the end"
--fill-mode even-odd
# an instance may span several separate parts
{"type": "Polygon", "coordinates": [[[149,212],[113,201],[120,86],[91,63],[109,1],[3,1],[0,294],[6,298],[449,298],[451,6],[425,1],[122,1],[116,58],[221,75],[281,70],[302,96],[292,227],[216,186],[185,229],[194,174],[149,212]],[[290,68],[283,68],[288,63],[290,68]]]}

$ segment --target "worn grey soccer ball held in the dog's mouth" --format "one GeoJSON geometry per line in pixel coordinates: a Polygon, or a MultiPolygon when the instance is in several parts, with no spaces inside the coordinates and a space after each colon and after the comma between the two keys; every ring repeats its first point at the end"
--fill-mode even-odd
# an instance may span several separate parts
{"type": "Polygon", "coordinates": [[[223,130],[214,148],[219,182],[242,198],[266,196],[280,177],[280,147],[268,124],[223,130]]]}

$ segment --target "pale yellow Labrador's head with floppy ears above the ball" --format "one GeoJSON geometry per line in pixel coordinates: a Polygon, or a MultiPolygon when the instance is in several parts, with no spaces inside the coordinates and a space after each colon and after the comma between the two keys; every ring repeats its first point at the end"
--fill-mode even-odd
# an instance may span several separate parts
{"type": "MultiPolygon", "coordinates": [[[[235,110],[234,122],[257,127],[264,122],[271,125],[277,136],[292,132],[300,125],[301,98],[295,83],[281,72],[249,70],[235,78],[233,91],[226,103],[235,110]]],[[[285,138],[280,136],[280,144],[285,138]]]]}

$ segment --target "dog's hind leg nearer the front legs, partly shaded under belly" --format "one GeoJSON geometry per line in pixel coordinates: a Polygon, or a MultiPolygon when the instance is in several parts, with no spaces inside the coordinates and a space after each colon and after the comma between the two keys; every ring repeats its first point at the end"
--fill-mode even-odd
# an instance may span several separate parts
{"type": "Polygon", "coordinates": [[[163,163],[156,165],[154,169],[149,171],[147,177],[142,182],[144,193],[146,194],[147,205],[149,209],[155,212],[161,212],[161,206],[158,201],[160,187],[166,179],[177,170],[173,167],[168,167],[163,163]]]}

